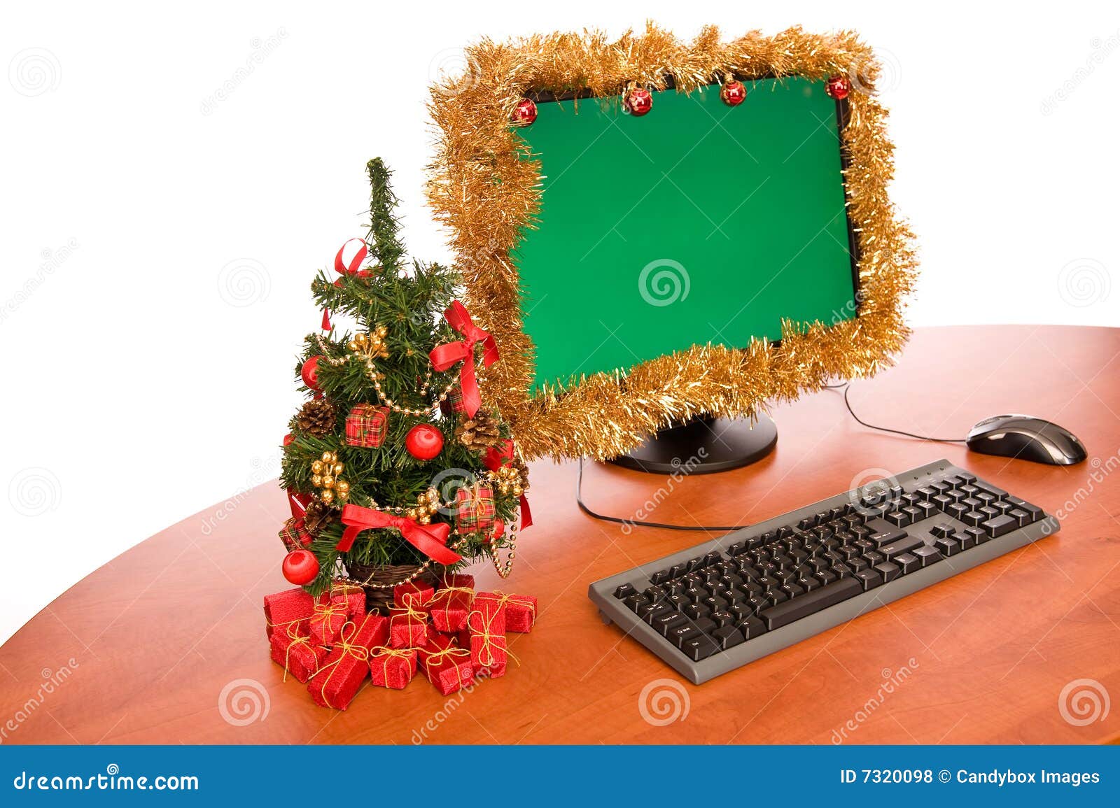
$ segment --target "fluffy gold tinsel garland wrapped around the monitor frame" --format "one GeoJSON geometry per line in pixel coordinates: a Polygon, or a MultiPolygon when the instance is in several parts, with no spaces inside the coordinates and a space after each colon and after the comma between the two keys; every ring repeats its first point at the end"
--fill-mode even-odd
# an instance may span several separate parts
{"type": "Polygon", "coordinates": [[[603,459],[696,413],[753,416],[767,402],[820,389],[831,376],[869,376],[906,341],[904,299],[917,265],[913,234],[887,198],[894,168],[887,113],[874,97],[879,66],[853,34],[791,28],[722,43],[718,29],[708,27],[684,45],[650,25],[614,43],[596,31],[483,40],[466,57],[467,74],[456,86],[431,88],[429,109],[440,138],[429,198],[452,231],[472,317],[494,335],[502,354],[502,361],[479,372],[480,386],[524,457],[603,459]],[[732,75],[857,79],[842,140],[848,212],[860,248],[859,317],[836,325],[786,320],[781,346],[696,346],[531,397],[533,345],[522,329],[510,252],[539,212],[540,162],[524,159],[524,141],[510,126],[513,107],[540,91],[603,97],[631,82],[662,90],[672,78],[679,92],[691,92],[732,75]]]}

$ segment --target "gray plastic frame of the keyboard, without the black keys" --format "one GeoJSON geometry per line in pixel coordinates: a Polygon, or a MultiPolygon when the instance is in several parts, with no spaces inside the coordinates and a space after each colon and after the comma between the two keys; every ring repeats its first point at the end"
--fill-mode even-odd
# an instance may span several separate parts
{"type": "MultiPolygon", "coordinates": [[[[948,460],[935,460],[931,463],[926,463],[925,466],[920,466],[916,469],[911,469],[909,471],[896,475],[894,476],[894,479],[896,479],[898,483],[907,490],[912,490],[915,486],[925,485],[956,473],[972,475],[971,471],[953,466],[948,460]]],[[[986,485],[995,485],[988,483],[979,477],[978,481],[986,485]]],[[[1009,495],[1018,496],[1014,491],[1009,491],[1009,495]]],[[[735,646],[726,651],[718,651],[699,663],[693,663],[684,656],[684,654],[672,642],[657,633],[652,627],[643,622],[641,618],[638,618],[614,595],[615,589],[626,583],[633,584],[634,588],[641,592],[650,585],[650,574],[656,572],[657,570],[664,570],[673,564],[688,562],[690,558],[694,558],[696,556],[702,555],[703,553],[712,549],[726,552],[727,547],[735,542],[744,541],[767,530],[777,529],[784,525],[795,525],[802,518],[813,516],[814,514],[838,505],[851,502],[853,501],[850,499],[851,496],[851,491],[844,491],[843,494],[838,494],[834,497],[829,497],[828,499],[822,499],[818,502],[813,502],[812,505],[806,505],[802,508],[797,508],[796,510],[782,514],[773,519],[759,522],[756,525],[735,530],[734,533],[720,536],[717,539],[708,539],[707,542],[689,547],[688,549],[682,549],[680,553],[674,553],[673,555],[666,555],[663,558],[652,561],[643,566],[627,570],[626,572],[618,573],[617,575],[612,575],[610,577],[596,581],[588,588],[587,595],[599,608],[599,614],[604,622],[617,623],[618,627],[626,632],[626,635],[633,637],[635,640],[656,654],[662,661],[673,668],[676,673],[685,677],[693,685],[699,685],[721,674],[726,674],[729,670],[734,670],[747,665],[748,663],[753,663],[760,657],[765,657],[774,651],[787,648],[795,642],[801,642],[802,640],[809,639],[814,635],[827,631],[830,628],[853,620],[860,614],[869,612],[872,609],[878,609],[881,605],[896,601],[899,598],[905,598],[908,594],[913,594],[918,590],[923,590],[926,586],[931,586],[940,581],[952,577],[953,575],[964,572],[965,570],[979,566],[980,564],[989,562],[992,558],[997,558],[1011,552],[1012,549],[1026,546],[1027,544],[1030,544],[1039,538],[1051,536],[1057,533],[1060,528],[1057,519],[1049,514],[1045,514],[1042,519],[1032,523],[1026,527],[1011,530],[999,538],[989,539],[983,544],[962,551],[952,557],[944,558],[936,564],[923,567],[922,570],[912,572],[908,575],[896,577],[889,583],[885,583],[881,586],[877,586],[876,589],[864,592],[862,594],[858,594],[855,598],[849,598],[848,600],[837,603],[836,605],[822,609],[821,611],[810,614],[806,618],[802,618],[801,620],[790,623],[788,626],[783,626],[780,629],[767,631],[753,640],[747,640],[746,642],[735,646]]],[[[933,541],[932,537],[928,535],[927,530],[922,528],[925,525],[942,523],[953,525],[954,529],[963,529],[965,527],[964,523],[945,516],[944,514],[939,514],[936,517],[924,519],[921,523],[916,523],[916,526],[906,527],[904,529],[911,535],[923,536],[923,538],[926,539],[926,544],[931,544],[933,541]]]]}

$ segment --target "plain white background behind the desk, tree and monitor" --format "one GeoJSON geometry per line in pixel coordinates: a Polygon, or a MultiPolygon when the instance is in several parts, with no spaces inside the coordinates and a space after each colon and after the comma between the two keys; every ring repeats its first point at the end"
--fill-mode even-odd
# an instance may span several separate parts
{"type": "Polygon", "coordinates": [[[1116,326],[1111,6],[7,4],[0,640],[277,475],[308,284],[364,232],[368,158],[395,169],[411,252],[448,257],[423,98],[464,44],[647,18],[682,38],[858,30],[886,63],[893,195],[920,237],[912,323],[1116,326]]]}

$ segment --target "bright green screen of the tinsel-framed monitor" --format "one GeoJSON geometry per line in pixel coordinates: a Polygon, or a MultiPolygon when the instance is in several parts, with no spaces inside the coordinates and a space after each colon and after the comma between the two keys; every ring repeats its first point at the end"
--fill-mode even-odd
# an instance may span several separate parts
{"type": "Polygon", "coordinates": [[[513,254],[534,389],[856,316],[841,104],[822,81],[745,84],[738,106],[655,92],[644,116],[542,100],[517,130],[542,175],[513,254]]]}

